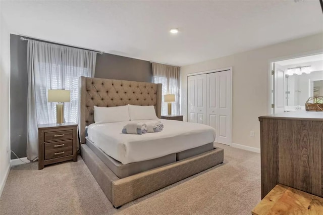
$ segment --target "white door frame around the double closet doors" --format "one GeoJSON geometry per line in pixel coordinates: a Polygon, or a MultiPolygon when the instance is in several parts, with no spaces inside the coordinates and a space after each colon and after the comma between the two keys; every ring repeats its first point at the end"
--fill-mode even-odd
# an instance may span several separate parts
{"type": "Polygon", "coordinates": [[[231,131],[231,142],[229,146],[232,146],[232,92],[233,92],[233,82],[232,82],[232,69],[233,67],[225,67],[225,68],[220,68],[220,69],[214,69],[214,70],[207,70],[207,71],[202,71],[202,72],[195,72],[195,73],[189,73],[186,74],[186,111],[185,111],[185,121],[187,122],[187,115],[188,115],[188,77],[189,76],[194,76],[194,75],[202,75],[202,74],[208,74],[208,73],[216,73],[216,72],[224,72],[224,71],[230,71],[230,82],[231,82],[231,92],[230,92],[230,131],[231,131]]]}

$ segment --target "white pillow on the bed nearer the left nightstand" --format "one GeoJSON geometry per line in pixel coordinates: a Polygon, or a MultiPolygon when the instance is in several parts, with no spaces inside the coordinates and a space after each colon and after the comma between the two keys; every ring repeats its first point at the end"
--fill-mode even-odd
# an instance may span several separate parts
{"type": "Polygon", "coordinates": [[[95,123],[114,123],[129,120],[129,109],[127,105],[111,108],[94,106],[95,123]]]}

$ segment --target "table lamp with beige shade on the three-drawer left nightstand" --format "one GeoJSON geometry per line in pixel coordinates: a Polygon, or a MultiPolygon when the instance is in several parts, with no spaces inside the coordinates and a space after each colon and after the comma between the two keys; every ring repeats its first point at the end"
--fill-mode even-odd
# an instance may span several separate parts
{"type": "Polygon", "coordinates": [[[64,124],[64,102],[70,101],[70,90],[48,90],[48,102],[58,102],[56,104],[56,124],[64,124]]]}

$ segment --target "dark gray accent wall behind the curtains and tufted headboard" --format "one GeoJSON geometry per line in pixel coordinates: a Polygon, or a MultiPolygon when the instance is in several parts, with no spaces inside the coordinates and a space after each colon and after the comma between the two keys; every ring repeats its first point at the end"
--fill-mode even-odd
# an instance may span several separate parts
{"type": "MultiPolygon", "coordinates": [[[[20,37],[10,35],[10,140],[11,150],[19,157],[26,157],[27,41],[20,40],[20,37]]],[[[95,67],[96,78],[152,82],[152,67],[149,61],[103,53],[96,56],[95,67]]],[[[11,159],[15,158],[11,153],[11,159]]]]}

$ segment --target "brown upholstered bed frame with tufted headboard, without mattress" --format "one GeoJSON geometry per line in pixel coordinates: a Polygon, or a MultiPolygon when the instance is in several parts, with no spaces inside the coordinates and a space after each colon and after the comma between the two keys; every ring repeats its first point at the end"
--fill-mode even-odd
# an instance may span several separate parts
{"type": "Polygon", "coordinates": [[[171,185],[223,162],[223,149],[214,148],[178,162],[126,178],[118,178],[88,147],[86,126],[94,123],[93,106],[154,105],[161,113],[161,84],[102,78],[79,79],[80,153],[90,172],[115,207],[171,185]]]}

